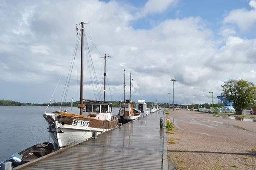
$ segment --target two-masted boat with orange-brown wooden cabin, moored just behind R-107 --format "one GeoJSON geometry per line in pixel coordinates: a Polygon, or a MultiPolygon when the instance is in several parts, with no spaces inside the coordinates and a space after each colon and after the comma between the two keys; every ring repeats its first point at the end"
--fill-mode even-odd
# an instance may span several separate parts
{"type": "Polygon", "coordinates": [[[120,109],[117,117],[119,119],[119,122],[124,122],[124,123],[132,122],[136,119],[140,119],[140,111],[133,108],[133,103],[131,101],[131,73],[130,73],[130,99],[126,100],[124,97],[124,101],[120,102],[120,109]]]}

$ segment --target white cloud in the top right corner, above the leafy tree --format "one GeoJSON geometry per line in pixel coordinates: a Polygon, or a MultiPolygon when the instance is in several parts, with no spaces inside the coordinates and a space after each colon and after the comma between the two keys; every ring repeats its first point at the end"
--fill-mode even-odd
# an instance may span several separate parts
{"type": "Polygon", "coordinates": [[[241,31],[247,31],[256,23],[256,1],[250,0],[251,10],[245,8],[230,11],[224,18],[224,24],[235,24],[241,31]]]}

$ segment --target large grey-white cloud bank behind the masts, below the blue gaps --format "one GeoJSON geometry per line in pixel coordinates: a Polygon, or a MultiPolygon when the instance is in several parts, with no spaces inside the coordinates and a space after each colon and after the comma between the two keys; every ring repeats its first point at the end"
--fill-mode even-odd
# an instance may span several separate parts
{"type": "MultiPolygon", "coordinates": [[[[144,15],[159,14],[175,2],[152,4],[154,1],[148,1],[139,10],[144,11],[144,15]],[[152,8],[153,5],[157,8],[152,8]]],[[[133,94],[137,99],[143,95],[148,102],[154,102],[157,96],[159,102],[168,102],[172,78],[177,79],[175,101],[189,104],[211,102],[208,91],[219,95],[220,85],[229,78],[251,77],[250,80],[256,83],[252,71],[256,63],[256,40],[239,37],[232,27],[224,26],[220,34],[225,38],[220,41],[201,17],[166,19],[150,29],[134,29],[133,22],[137,19],[134,8],[118,1],[22,1],[8,4],[2,11],[0,22],[5,24],[0,30],[0,81],[23,83],[23,87],[36,84],[33,86],[36,91],[44,91],[43,96],[28,97],[28,102],[48,102],[60,75],[59,87],[65,84],[76,42],[76,23],[81,21],[91,23],[85,29],[93,43],[102,55],[111,56],[107,60],[107,77],[113,100],[123,98],[124,69],[127,74],[132,74],[132,100],[133,94]],[[12,13],[12,10],[16,12],[12,13]],[[6,16],[9,16],[8,20],[6,16]],[[17,27],[13,27],[13,20],[19,21],[17,27]],[[221,43],[224,45],[219,48],[221,43]],[[45,88],[39,86],[41,84],[45,88]],[[46,88],[49,86],[53,86],[52,91],[46,88]]],[[[96,74],[102,82],[102,56],[87,40],[96,74]]],[[[78,91],[79,52],[77,57],[70,98],[79,96],[74,95],[78,91]]],[[[84,64],[86,95],[93,99],[87,62],[84,64]]],[[[129,76],[127,82],[128,79],[129,76]]],[[[6,86],[0,92],[4,95],[5,91],[13,90],[8,88],[6,86]]],[[[18,90],[13,92],[20,95],[18,90]]],[[[56,101],[60,100],[61,91],[55,96],[56,101]]],[[[23,102],[22,95],[20,102],[23,102]]]]}

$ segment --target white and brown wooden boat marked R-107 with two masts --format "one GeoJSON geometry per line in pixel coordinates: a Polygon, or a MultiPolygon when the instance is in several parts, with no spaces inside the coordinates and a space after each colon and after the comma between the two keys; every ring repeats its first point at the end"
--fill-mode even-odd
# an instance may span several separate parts
{"type": "MultiPolygon", "coordinates": [[[[112,103],[105,102],[105,77],[106,55],[104,73],[104,101],[89,100],[83,98],[83,59],[84,59],[84,22],[81,24],[81,77],[80,77],[80,103],[79,114],[67,113],[67,111],[55,111],[44,113],[44,118],[49,123],[49,133],[53,141],[59,147],[66,147],[93,137],[97,134],[111,130],[118,125],[116,116],[112,116],[112,103]],[[94,133],[95,134],[95,133],[94,133]]],[[[78,28],[77,28],[78,30],[78,28]]],[[[85,39],[86,40],[86,39],[85,39]]]]}

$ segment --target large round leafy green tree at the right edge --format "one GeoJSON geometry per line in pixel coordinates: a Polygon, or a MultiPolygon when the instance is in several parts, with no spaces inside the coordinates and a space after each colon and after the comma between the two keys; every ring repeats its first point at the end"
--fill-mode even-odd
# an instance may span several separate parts
{"type": "Polygon", "coordinates": [[[242,111],[250,105],[255,105],[256,87],[253,82],[248,82],[243,79],[229,79],[224,83],[224,85],[221,85],[223,88],[221,95],[227,96],[226,99],[229,102],[233,102],[233,108],[235,108],[236,111],[242,111]]]}

